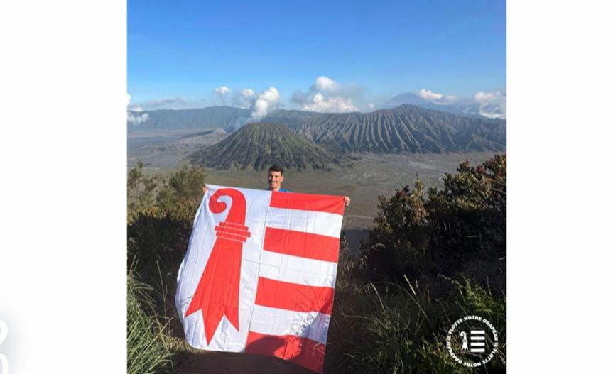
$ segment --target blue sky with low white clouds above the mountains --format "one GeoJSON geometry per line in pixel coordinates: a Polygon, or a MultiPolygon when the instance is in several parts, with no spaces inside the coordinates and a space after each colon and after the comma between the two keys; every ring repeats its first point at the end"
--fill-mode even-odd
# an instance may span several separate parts
{"type": "Polygon", "coordinates": [[[506,100],[505,1],[128,1],[133,108],[368,111],[404,92],[506,100]]]}

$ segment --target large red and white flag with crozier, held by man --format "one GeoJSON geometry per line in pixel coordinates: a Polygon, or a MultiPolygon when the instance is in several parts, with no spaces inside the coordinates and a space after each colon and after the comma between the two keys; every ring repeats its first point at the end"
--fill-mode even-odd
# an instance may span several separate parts
{"type": "Polygon", "coordinates": [[[343,197],[207,187],[177,279],[185,339],[321,373],[343,197]]]}

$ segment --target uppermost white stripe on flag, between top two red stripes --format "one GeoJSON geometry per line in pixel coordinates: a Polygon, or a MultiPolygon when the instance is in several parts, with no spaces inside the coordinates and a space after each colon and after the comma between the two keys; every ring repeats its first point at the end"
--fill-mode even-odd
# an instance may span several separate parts
{"type": "Polygon", "coordinates": [[[269,207],[266,226],[340,238],[342,216],[322,211],[269,207]]]}

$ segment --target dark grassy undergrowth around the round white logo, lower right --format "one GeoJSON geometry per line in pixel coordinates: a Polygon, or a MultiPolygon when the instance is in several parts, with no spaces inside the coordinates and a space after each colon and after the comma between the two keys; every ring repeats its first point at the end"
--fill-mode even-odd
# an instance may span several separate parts
{"type": "MultiPolygon", "coordinates": [[[[359,266],[359,265],[358,265],[359,266]]],[[[339,269],[340,278],[351,266],[339,269]]],[[[433,298],[418,282],[337,283],[325,372],[474,373],[453,361],[445,346],[447,330],[465,315],[492,321],[499,352],[482,372],[506,371],[506,299],[469,280],[445,279],[450,290],[433,298]],[[347,287],[349,285],[349,287],[347,287]]],[[[492,342],[489,342],[492,344],[492,342]]]]}

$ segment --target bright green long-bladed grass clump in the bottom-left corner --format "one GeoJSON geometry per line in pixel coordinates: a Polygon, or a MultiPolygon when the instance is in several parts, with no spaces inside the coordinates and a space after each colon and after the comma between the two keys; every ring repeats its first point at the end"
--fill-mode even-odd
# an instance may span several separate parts
{"type": "Polygon", "coordinates": [[[129,374],[164,373],[170,364],[171,353],[164,345],[163,326],[143,312],[150,302],[148,285],[128,275],[127,315],[127,372],[129,374]]]}

